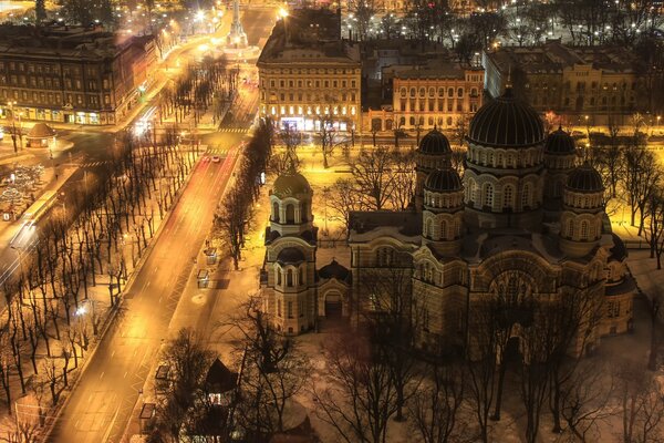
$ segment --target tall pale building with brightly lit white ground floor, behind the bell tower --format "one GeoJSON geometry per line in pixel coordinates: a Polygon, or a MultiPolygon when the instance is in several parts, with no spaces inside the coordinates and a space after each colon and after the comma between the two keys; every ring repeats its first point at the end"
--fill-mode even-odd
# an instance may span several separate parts
{"type": "Polygon", "coordinates": [[[361,127],[360,50],[340,32],[339,12],[326,9],[277,23],[257,63],[261,116],[298,131],[361,127]]]}

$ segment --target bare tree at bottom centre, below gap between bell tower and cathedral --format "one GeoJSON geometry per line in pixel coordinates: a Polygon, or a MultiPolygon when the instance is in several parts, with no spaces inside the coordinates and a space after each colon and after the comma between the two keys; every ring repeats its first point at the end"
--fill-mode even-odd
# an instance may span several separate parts
{"type": "Polygon", "coordinates": [[[317,416],[347,443],[384,443],[397,410],[390,368],[361,331],[339,332],[323,352],[324,381],[312,390],[317,416]]]}

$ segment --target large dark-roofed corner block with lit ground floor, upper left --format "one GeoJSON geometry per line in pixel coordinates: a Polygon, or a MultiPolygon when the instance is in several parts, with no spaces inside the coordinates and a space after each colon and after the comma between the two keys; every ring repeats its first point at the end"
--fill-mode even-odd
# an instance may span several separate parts
{"type": "Polygon", "coordinates": [[[0,27],[0,116],[115,124],[152,81],[149,35],[98,29],[0,27]]]}

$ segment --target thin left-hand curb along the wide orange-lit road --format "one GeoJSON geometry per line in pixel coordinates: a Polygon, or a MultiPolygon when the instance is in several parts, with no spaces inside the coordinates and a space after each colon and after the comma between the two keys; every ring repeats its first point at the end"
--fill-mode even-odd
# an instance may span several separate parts
{"type": "MultiPolygon", "coordinates": [[[[198,154],[200,154],[200,153],[198,153],[198,154]]],[[[194,163],[194,168],[191,169],[191,173],[187,176],[187,178],[185,179],[185,183],[183,183],[183,186],[180,186],[180,188],[178,189],[178,192],[175,196],[175,199],[173,200],[173,205],[170,205],[170,209],[173,209],[178,204],[180,196],[184,193],[184,189],[189,185],[189,181],[191,178],[194,169],[198,166],[197,162],[198,162],[198,158],[194,163]]],[[[138,262],[136,264],[136,267],[132,270],[132,275],[127,279],[127,282],[124,286],[123,292],[126,292],[127,288],[129,288],[134,284],[134,280],[136,279],[136,275],[141,271],[143,265],[147,260],[147,257],[149,257],[149,255],[152,254],[152,251],[154,249],[154,245],[158,241],[158,239],[162,235],[162,231],[164,230],[164,226],[166,225],[166,223],[168,223],[172,215],[173,215],[173,210],[168,210],[166,216],[162,219],[162,223],[159,223],[159,227],[155,231],[154,237],[151,239],[148,247],[145,248],[143,256],[141,256],[141,258],[138,259],[138,262]]],[[[115,306],[110,308],[111,312],[108,312],[108,316],[106,317],[106,319],[104,320],[104,322],[101,326],[98,339],[95,342],[94,349],[92,349],[87,353],[87,358],[79,367],[79,369],[80,369],[79,374],[77,374],[79,377],[76,377],[76,380],[74,381],[73,384],[70,384],[70,389],[68,390],[68,395],[64,398],[64,401],[61,404],[58,404],[55,406],[54,413],[51,414],[52,416],[55,418],[55,420],[53,420],[52,424],[50,426],[48,426],[48,429],[44,430],[44,434],[41,436],[41,441],[45,442],[51,436],[51,432],[53,432],[53,427],[55,426],[55,423],[59,421],[60,414],[69,404],[72,392],[74,392],[74,390],[79,387],[80,380],[83,378],[83,374],[85,373],[85,370],[87,369],[87,365],[90,364],[90,362],[94,359],[94,356],[96,354],[96,351],[100,348],[101,342],[106,337],[106,332],[108,332],[108,329],[111,329],[111,326],[113,324],[115,317],[117,316],[117,312],[120,311],[120,308],[122,307],[123,302],[124,302],[124,297],[120,296],[118,301],[115,303],[115,306]]]]}

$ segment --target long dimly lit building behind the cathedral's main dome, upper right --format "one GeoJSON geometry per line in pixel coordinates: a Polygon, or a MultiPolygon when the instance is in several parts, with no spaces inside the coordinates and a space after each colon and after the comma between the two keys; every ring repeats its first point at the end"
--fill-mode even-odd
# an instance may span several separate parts
{"type": "Polygon", "coordinates": [[[506,47],[485,52],[483,65],[491,96],[498,96],[511,76],[515,93],[541,114],[549,113],[553,123],[627,124],[635,112],[649,111],[639,61],[625,48],[571,48],[558,41],[506,47]]]}

